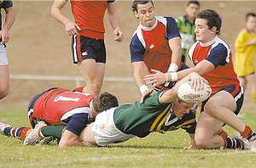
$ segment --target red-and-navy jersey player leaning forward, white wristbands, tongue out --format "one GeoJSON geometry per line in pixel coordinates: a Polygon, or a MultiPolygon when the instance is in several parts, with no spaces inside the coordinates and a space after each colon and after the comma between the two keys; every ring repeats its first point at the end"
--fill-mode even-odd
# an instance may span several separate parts
{"type": "MultiPolygon", "coordinates": [[[[143,81],[144,65],[151,74],[151,69],[176,72],[188,68],[182,64],[181,38],[177,29],[177,23],[172,17],[155,16],[153,1],[135,0],[132,12],[139,20],[130,43],[131,63],[133,76],[140,92],[148,92],[148,87],[143,81]]],[[[162,86],[156,86],[156,90],[165,90],[173,86],[167,82],[162,86]]]]}

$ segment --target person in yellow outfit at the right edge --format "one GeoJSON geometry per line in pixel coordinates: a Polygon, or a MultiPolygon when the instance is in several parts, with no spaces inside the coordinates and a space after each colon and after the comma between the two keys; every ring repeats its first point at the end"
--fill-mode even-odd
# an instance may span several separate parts
{"type": "Polygon", "coordinates": [[[241,87],[252,86],[252,98],[256,103],[256,75],[254,58],[256,53],[256,14],[246,15],[246,29],[236,37],[235,70],[241,87]]]}

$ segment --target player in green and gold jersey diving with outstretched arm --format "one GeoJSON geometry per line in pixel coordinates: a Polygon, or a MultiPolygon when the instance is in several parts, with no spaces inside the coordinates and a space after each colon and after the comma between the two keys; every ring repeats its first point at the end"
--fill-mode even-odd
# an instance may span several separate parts
{"type": "MultiPolygon", "coordinates": [[[[187,148],[196,148],[195,113],[189,111],[194,104],[185,103],[177,98],[177,88],[190,78],[199,81],[195,86],[196,89],[201,88],[201,83],[205,81],[197,73],[192,73],[182,81],[178,81],[171,90],[156,92],[151,96],[144,94],[143,96],[148,98],[143,97],[135,104],[125,104],[105,110],[96,116],[95,122],[84,129],[79,141],[84,146],[102,147],[111,143],[125,142],[131,137],[147,137],[150,132],[164,133],[183,128],[191,137],[191,144],[187,148]]],[[[60,137],[62,130],[65,130],[64,126],[55,126],[55,128],[46,126],[37,132],[32,132],[36,136],[31,137],[37,137],[39,134],[44,137],[60,137]]]]}

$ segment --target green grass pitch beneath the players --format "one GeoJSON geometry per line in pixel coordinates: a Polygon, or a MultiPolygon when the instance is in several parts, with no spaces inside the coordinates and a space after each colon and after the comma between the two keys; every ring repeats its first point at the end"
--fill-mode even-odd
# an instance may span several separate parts
{"type": "MultiPolygon", "coordinates": [[[[256,113],[242,118],[256,129],[256,113]]],[[[0,121],[29,126],[26,111],[0,111],[0,121]]],[[[225,126],[232,136],[234,131],[225,126]]],[[[183,130],[152,133],[108,148],[23,146],[19,139],[0,135],[0,167],[255,167],[256,153],[242,150],[183,150],[189,135],[183,130]]]]}

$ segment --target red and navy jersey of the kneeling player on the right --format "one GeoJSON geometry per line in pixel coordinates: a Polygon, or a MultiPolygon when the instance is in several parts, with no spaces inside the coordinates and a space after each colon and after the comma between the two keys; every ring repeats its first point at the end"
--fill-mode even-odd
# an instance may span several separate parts
{"type": "MultiPolygon", "coordinates": [[[[234,71],[230,47],[218,36],[212,42],[195,42],[189,49],[189,58],[195,66],[203,59],[214,65],[214,70],[203,75],[212,87],[212,93],[231,86],[236,86],[239,91],[240,85],[234,71]]],[[[234,92],[234,94],[236,93],[234,92]]]]}

